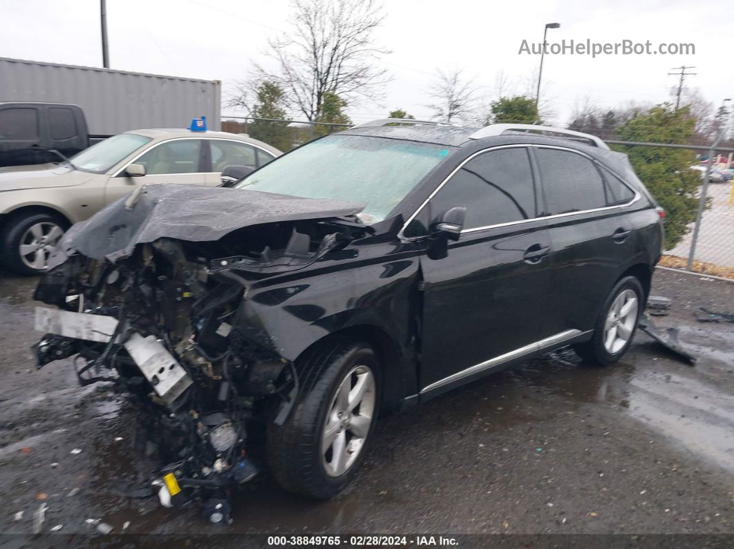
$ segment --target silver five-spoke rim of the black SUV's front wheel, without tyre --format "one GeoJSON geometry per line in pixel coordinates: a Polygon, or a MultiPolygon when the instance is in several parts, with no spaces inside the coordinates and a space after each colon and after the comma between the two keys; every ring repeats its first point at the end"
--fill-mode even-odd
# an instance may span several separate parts
{"type": "Polygon", "coordinates": [[[321,435],[321,455],[329,476],[341,476],[362,452],[374,416],[375,383],[368,366],[355,366],[341,380],[321,435]]]}

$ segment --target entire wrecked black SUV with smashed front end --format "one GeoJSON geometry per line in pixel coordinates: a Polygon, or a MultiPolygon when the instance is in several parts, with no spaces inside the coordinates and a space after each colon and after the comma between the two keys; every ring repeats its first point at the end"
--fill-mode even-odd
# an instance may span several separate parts
{"type": "Polygon", "coordinates": [[[627,350],[662,225],[625,155],[411,123],[326,136],[235,188],[148,185],[65,235],[35,292],[58,307],[37,310],[38,364],[79,355],[82,384],[139,397],[164,504],[224,501],[258,429],[283,487],[328,498],[380,413],[559,347],[627,350]]]}

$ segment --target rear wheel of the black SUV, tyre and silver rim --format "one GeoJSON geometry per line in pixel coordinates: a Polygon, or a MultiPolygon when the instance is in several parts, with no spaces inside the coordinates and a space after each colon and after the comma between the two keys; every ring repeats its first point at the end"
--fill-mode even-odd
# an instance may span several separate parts
{"type": "Polygon", "coordinates": [[[634,276],[625,276],[614,284],[588,342],[574,350],[586,361],[607,366],[622,358],[634,336],[644,306],[642,284],[634,276]]]}

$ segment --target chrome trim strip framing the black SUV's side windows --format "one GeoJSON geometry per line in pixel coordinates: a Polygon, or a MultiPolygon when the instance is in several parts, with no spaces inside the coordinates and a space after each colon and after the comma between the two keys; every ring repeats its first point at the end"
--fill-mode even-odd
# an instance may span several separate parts
{"type": "MultiPolygon", "coordinates": [[[[424,207],[426,207],[426,205],[431,201],[431,199],[435,196],[435,194],[437,194],[437,192],[440,191],[443,188],[443,185],[446,185],[446,183],[448,182],[448,180],[451,179],[451,177],[454,177],[454,174],[456,174],[459,171],[459,169],[462,169],[462,167],[464,166],[465,163],[467,163],[468,161],[472,160],[476,156],[479,156],[479,155],[484,154],[485,152],[491,152],[493,150],[500,150],[500,149],[512,149],[512,148],[517,148],[517,147],[535,147],[535,148],[538,148],[538,149],[557,149],[557,150],[565,150],[565,151],[568,151],[568,152],[575,152],[575,154],[577,154],[577,155],[581,155],[581,156],[584,156],[585,158],[588,158],[590,161],[592,161],[592,163],[595,163],[595,164],[599,163],[602,166],[604,166],[605,169],[608,169],[609,172],[611,172],[616,177],[618,177],[619,180],[622,181],[623,184],[627,185],[627,187],[631,191],[633,191],[634,196],[632,197],[632,199],[629,202],[625,202],[625,204],[617,204],[617,205],[614,205],[614,206],[603,206],[603,207],[598,207],[598,208],[592,208],[591,210],[581,210],[581,211],[578,211],[578,212],[556,213],[554,215],[545,215],[543,217],[534,217],[534,218],[529,218],[529,219],[520,219],[518,221],[509,221],[507,223],[498,223],[498,224],[494,224],[494,225],[485,225],[485,226],[479,226],[479,227],[472,227],[471,229],[464,229],[464,230],[462,230],[462,235],[465,234],[465,233],[486,231],[487,229],[495,229],[495,228],[498,228],[498,227],[520,225],[520,224],[524,224],[524,223],[529,223],[531,221],[539,221],[539,220],[548,220],[548,219],[563,218],[563,217],[568,217],[570,215],[582,215],[582,214],[586,214],[586,213],[602,212],[604,210],[614,210],[614,209],[617,209],[617,208],[631,206],[631,205],[633,205],[635,202],[637,202],[642,197],[642,194],[640,194],[640,192],[636,188],[632,188],[630,185],[628,185],[625,182],[624,178],[623,177],[620,177],[619,174],[617,174],[617,172],[615,172],[613,169],[611,169],[608,166],[606,166],[606,164],[600,163],[599,161],[597,161],[596,158],[593,158],[591,155],[587,155],[586,152],[582,152],[582,151],[578,151],[578,150],[575,150],[575,149],[571,149],[570,147],[560,147],[559,145],[545,145],[545,144],[534,144],[534,143],[512,144],[512,145],[497,145],[495,147],[488,147],[487,149],[479,150],[479,151],[473,153],[473,155],[468,156],[467,158],[464,159],[464,161],[462,161],[462,163],[459,164],[459,166],[457,166],[455,169],[453,169],[451,171],[451,173],[448,174],[446,176],[446,178],[444,178],[444,180],[441,183],[439,183],[439,185],[434,189],[434,191],[432,191],[432,193],[428,196],[428,198],[426,198],[424,200],[424,202],[420,206],[418,206],[418,209],[415,210],[415,212],[413,212],[413,215],[410,215],[410,217],[407,218],[407,221],[405,221],[405,223],[403,224],[402,228],[398,232],[398,238],[401,240],[401,242],[413,242],[414,240],[418,240],[419,238],[423,238],[423,237],[426,236],[426,235],[421,235],[421,236],[415,236],[415,237],[407,237],[407,236],[404,235],[404,231],[405,231],[405,228],[410,224],[410,222],[413,221],[413,219],[415,219],[415,216],[418,215],[418,213],[421,213],[421,210],[423,210],[424,207]]],[[[599,175],[603,179],[603,174],[599,174],[599,175]]]]}

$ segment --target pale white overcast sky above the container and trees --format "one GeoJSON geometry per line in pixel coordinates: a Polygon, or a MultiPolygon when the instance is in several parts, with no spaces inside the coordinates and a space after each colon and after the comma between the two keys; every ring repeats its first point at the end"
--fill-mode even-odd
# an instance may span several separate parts
{"type": "MultiPolygon", "coordinates": [[[[693,43],[688,55],[546,56],[545,105],[565,125],[586,97],[603,107],[634,100],[660,103],[677,84],[672,67],[694,65],[691,88],[718,106],[734,97],[734,15],[727,0],[469,1],[385,0],[377,32],[393,51],[393,81],[382,105],[351,106],[355,122],[404,108],[430,114],[426,90],[437,69],[461,68],[488,96],[498,73],[504,92],[523,93],[539,56],[518,54],[539,43],[545,23],[561,23],[548,42],[693,43]]],[[[107,0],[112,68],[221,80],[225,89],[261,59],[269,37],[288,29],[288,0],[107,0]]],[[[70,65],[101,65],[98,0],[0,0],[0,56],[70,65]]],[[[233,111],[225,111],[233,114],[233,111]]]]}

